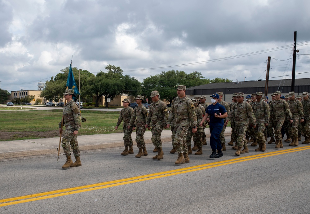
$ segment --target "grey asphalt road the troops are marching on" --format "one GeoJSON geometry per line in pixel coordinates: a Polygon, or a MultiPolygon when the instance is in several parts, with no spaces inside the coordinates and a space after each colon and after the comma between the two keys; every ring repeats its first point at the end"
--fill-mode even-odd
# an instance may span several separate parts
{"type": "Polygon", "coordinates": [[[181,165],[170,143],[160,161],[149,145],[141,158],[137,148],[128,156],[122,148],[82,152],[82,167],[66,170],[63,155],[59,162],[57,156],[3,160],[0,213],[309,213],[310,146],[283,144],[268,144],[265,152],[249,146],[239,157],[227,146],[224,157],[209,159],[208,143],[203,155],[181,165]]]}

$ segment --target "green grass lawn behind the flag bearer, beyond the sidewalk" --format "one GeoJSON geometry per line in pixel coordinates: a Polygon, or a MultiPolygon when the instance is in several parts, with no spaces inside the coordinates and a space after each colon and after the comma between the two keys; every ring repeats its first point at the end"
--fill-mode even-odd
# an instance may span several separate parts
{"type": "MultiPolygon", "coordinates": [[[[58,137],[62,109],[44,111],[0,111],[0,141],[58,137]]],[[[82,111],[87,119],[79,135],[122,132],[115,130],[118,111],[82,111]]]]}

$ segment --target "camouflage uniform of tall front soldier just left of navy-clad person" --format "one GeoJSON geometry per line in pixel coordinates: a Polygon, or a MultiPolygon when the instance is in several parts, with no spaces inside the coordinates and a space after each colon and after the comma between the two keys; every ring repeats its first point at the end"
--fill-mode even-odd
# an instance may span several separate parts
{"type": "Polygon", "coordinates": [[[197,124],[197,117],[194,104],[187,96],[184,98],[176,97],[171,105],[168,124],[175,120],[175,127],[172,132],[173,145],[178,153],[187,153],[186,134],[189,127],[197,124]]]}

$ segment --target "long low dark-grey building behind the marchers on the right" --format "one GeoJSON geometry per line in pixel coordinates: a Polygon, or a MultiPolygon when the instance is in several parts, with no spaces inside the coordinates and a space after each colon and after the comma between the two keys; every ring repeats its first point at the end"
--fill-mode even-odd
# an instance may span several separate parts
{"type": "MultiPolygon", "coordinates": [[[[205,95],[208,97],[212,94],[221,91],[223,92],[223,100],[231,102],[232,94],[243,92],[245,95],[261,91],[265,93],[266,81],[243,81],[243,82],[225,82],[225,83],[210,83],[206,85],[199,85],[186,89],[186,95],[193,99],[196,96],[205,95]]],[[[268,82],[268,98],[275,91],[281,91],[282,95],[288,94],[291,91],[291,79],[286,80],[269,80],[268,82]]],[[[295,95],[301,95],[304,91],[310,91],[310,78],[295,79],[295,95]]]]}

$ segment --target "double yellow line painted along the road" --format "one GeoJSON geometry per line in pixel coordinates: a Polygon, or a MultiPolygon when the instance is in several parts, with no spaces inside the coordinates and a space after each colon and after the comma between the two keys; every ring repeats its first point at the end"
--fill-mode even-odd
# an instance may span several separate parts
{"type": "Polygon", "coordinates": [[[161,177],[168,177],[168,176],[173,176],[173,175],[178,175],[178,174],[183,174],[183,173],[189,173],[189,172],[194,172],[198,170],[239,163],[239,162],[248,161],[248,160],[265,158],[265,157],[270,157],[274,155],[281,155],[281,154],[286,154],[286,153],[295,152],[295,151],[303,151],[307,149],[310,149],[310,146],[296,147],[296,148],[286,149],[286,150],[278,150],[274,152],[261,153],[258,155],[251,155],[251,156],[246,156],[246,157],[239,157],[239,158],[234,158],[234,159],[229,159],[229,160],[218,161],[215,163],[202,164],[202,165],[197,165],[197,166],[192,166],[192,167],[187,167],[187,168],[180,168],[180,169],[175,169],[175,170],[170,170],[170,171],[165,171],[165,172],[160,172],[160,173],[153,173],[153,174],[142,175],[142,176],[137,176],[137,177],[125,178],[125,179],[120,179],[120,180],[115,180],[115,181],[107,181],[107,182],[102,182],[102,183],[97,183],[97,184],[86,185],[86,186],[78,186],[78,187],[73,187],[73,188],[68,188],[68,189],[54,190],[54,191],[43,192],[43,193],[38,193],[38,194],[31,194],[31,195],[24,195],[24,196],[19,196],[19,197],[14,197],[14,198],[2,199],[0,200],[0,207],[18,204],[18,203],[37,201],[37,200],[42,200],[42,199],[55,198],[59,196],[76,194],[80,192],[100,190],[100,189],[109,188],[113,186],[120,186],[120,185],[125,185],[125,184],[136,183],[140,181],[152,180],[152,179],[161,178],[161,177]]]}

